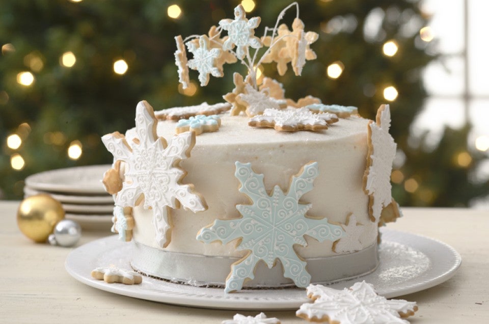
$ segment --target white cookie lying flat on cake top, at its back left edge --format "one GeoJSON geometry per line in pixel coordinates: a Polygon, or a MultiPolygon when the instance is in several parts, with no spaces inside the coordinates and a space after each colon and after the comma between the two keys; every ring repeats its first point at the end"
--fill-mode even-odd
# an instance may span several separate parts
{"type": "Polygon", "coordinates": [[[192,116],[197,115],[218,115],[222,112],[231,109],[231,104],[220,102],[215,104],[208,104],[207,102],[202,102],[194,106],[186,107],[173,107],[164,110],[160,110],[154,113],[159,120],[174,120],[178,121],[180,119],[187,119],[192,116]]]}

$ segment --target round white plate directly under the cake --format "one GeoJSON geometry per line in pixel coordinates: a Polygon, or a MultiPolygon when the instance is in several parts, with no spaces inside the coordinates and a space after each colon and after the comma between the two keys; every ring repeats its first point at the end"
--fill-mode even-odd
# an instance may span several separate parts
{"type": "MultiPolygon", "coordinates": [[[[460,255],[442,241],[389,229],[383,229],[381,232],[383,242],[385,242],[383,244],[392,245],[394,250],[412,249],[425,255],[429,259],[429,267],[426,271],[402,283],[392,284],[389,282],[390,278],[382,277],[379,267],[367,276],[341,281],[330,287],[342,289],[357,281],[376,281],[381,286],[376,287],[379,294],[386,298],[394,298],[441,284],[450,279],[460,266],[460,255]]],[[[303,303],[310,302],[305,289],[302,288],[247,289],[235,293],[224,293],[223,288],[194,287],[149,277],[143,277],[143,283],[140,285],[108,284],[91,277],[92,269],[99,266],[116,264],[129,269],[129,253],[118,253],[111,259],[112,252],[123,252],[124,249],[127,249],[128,252],[130,245],[119,241],[116,235],[103,237],[71,251],[66,258],[65,267],[74,279],[91,287],[173,305],[234,310],[288,310],[298,309],[303,303]],[[101,255],[103,258],[100,257],[101,255]]],[[[395,254],[395,251],[391,251],[392,248],[386,250],[388,250],[386,253],[395,254]]],[[[387,257],[394,257],[394,255],[387,255],[387,257]]],[[[416,262],[416,259],[405,260],[405,262],[406,264],[416,262]]]]}

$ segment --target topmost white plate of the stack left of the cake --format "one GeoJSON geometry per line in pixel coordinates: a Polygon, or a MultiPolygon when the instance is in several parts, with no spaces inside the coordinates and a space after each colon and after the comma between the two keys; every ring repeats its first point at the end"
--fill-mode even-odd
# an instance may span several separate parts
{"type": "Polygon", "coordinates": [[[103,173],[111,165],[73,167],[36,173],[25,178],[25,185],[35,190],[56,193],[105,194],[103,173]]]}

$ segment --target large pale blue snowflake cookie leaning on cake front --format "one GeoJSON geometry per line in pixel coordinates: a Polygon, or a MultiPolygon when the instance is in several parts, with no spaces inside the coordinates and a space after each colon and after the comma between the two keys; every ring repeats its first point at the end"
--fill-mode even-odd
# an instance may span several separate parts
{"type": "Polygon", "coordinates": [[[307,262],[297,255],[293,246],[307,246],[304,235],[320,242],[335,241],[344,235],[341,226],[328,223],[327,218],[308,218],[306,213],[312,204],[299,202],[313,189],[313,181],[318,175],[317,162],[306,164],[292,176],[287,193],[276,185],[270,195],[263,183],[263,174],[256,174],[251,163],[236,162],[235,165],[234,175],[241,183],[239,192],[247,195],[253,204],[236,205],[241,218],[215,220],[197,234],[197,239],[205,243],[221,241],[227,244],[239,239],[236,249],[249,251],[231,266],[225,291],[240,290],[245,281],[253,279],[258,261],[263,260],[271,268],[277,259],[282,263],[284,277],[292,279],[298,287],[306,287],[311,280],[306,271],[307,262]]]}

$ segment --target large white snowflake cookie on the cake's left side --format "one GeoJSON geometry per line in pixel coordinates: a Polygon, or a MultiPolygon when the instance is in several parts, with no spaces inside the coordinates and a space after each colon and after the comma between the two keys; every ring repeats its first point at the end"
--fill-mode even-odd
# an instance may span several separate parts
{"type": "Polygon", "coordinates": [[[171,223],[165,209],[179,208],[180,205],[193,212],[207,209],[203,197],[194,192],[192,184],[181,184],[185,171],[178,168],[179,162],[190,156],[195,133],[178,134],[167,146],[164,138],[156,136],[157,119],[146,101],[136,107],[135,124],[137,139],[132,147],[119,132],[102,137],[114,158],[126,163],[124,183],[115,204],[134,207],[144,201],[144,208],[153,211],[156,241],[166,247],[170,242],[171,223]]]}

